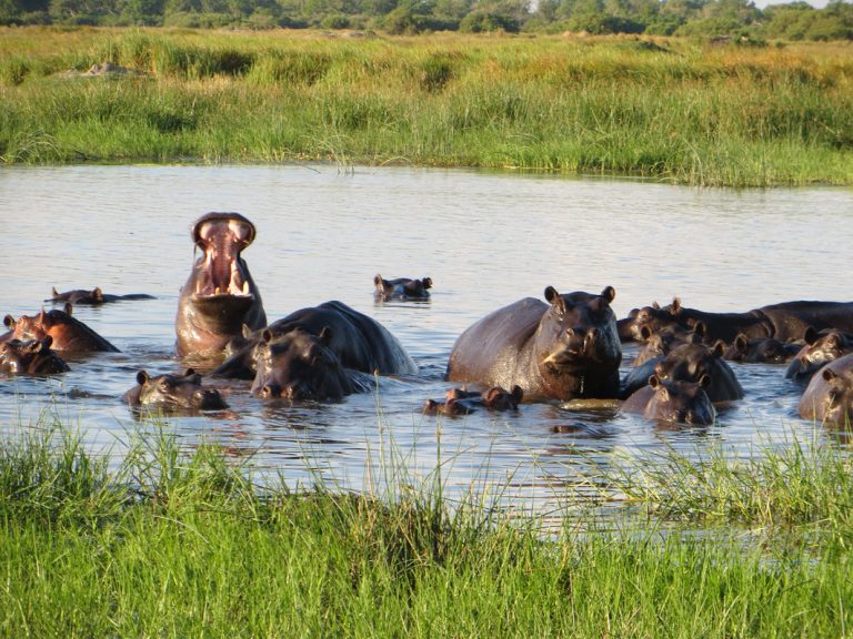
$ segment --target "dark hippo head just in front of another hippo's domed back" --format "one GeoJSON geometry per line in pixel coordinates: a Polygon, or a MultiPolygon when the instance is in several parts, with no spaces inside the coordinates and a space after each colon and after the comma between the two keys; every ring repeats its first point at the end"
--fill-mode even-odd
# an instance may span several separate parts
{"type": "Polygon", "coordinates": [[[347,371],[329,348],[331,341],[328,327],[320,335],[301,328],[279,336],[264,331],[257,347],[252,394],[291,400],[335,400],[353,393],[347,371]]]}

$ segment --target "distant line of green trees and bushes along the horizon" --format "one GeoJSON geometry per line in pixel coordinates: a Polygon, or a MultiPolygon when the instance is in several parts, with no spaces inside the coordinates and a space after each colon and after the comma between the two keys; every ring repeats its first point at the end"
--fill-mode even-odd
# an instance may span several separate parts
{"type": "Polygon", "coordinates": [[[749,0],[0,0],[0,24],[648,33],[853,40],[853,4],[749,0]]]}

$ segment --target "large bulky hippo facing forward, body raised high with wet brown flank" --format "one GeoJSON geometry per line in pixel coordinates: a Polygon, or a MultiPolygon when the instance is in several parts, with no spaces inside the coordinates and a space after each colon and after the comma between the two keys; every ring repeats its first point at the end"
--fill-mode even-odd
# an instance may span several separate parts
{"type": "Polygon", "coordinates": [[[548,303],[525,297],[494,311],[456,339],[446,379],[524,388],[524,400],[610,398],[619,395],[622,345],[611,308],[612,286],[600,295],[560,294],[548,303]]]}

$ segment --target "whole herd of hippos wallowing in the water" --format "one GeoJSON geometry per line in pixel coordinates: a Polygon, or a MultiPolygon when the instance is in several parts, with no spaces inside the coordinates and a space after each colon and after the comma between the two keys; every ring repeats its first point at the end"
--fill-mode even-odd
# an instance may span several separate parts
{"type": "MultiPolygon", "coordinates": [[[[337,400],[369,390],[375,375],[412,376],[418,367],[400,342],[341,302],[301,308],[268,322],[261,294],[241,256],[254,225],[238,213],[208,213],[191,227],[200,256],[181,288],[177,354],[209,363],[205,375],[137,374],[123,395],[131,406],[222,409],[203,378],[251,381],[262,398],[337,400]]],[[[374,277],[378,300],[426,300],[432,280],[374,277]]],[[[139,300],[100,288],[58,293],[42,310],[7,315],[0,373],[48,375],[69,369],[63,354],[117,351],[73,317],[73,306],[139,300]]],[[[704,313],[658,304],[616,321],[615,291],[526,297],[474,323],[456,339],[446,381],[462,387],[428,399],[424,413],[518,409],[523,402],[622,399],[622,410],[651,419],[711,424],[716,408],[741,399],[726,361],[789,363],[804,393],[800,415],[844,425],[853,419],[853,303],[786,302],[746,313],[704,313]],[[620,376],[622,344],[640,342],[633,368],[620,376]],[[469,389],[469,387],[471,389],[469,389]]]]}

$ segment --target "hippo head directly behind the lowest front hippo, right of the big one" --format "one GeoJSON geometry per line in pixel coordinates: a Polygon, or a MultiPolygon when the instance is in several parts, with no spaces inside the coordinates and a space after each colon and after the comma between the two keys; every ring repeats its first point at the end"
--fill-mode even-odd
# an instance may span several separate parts
{"type": "Polygon", "coordinates": [[[714,346],[704,344],[681,344],[675,346],[654,367],[659,379],[699,383],[708,375],[710,383],[704,387],[712,402],[741,399],[743,388],[732,368],[723,361],[725,344],[717,341],[714,346]]]}

